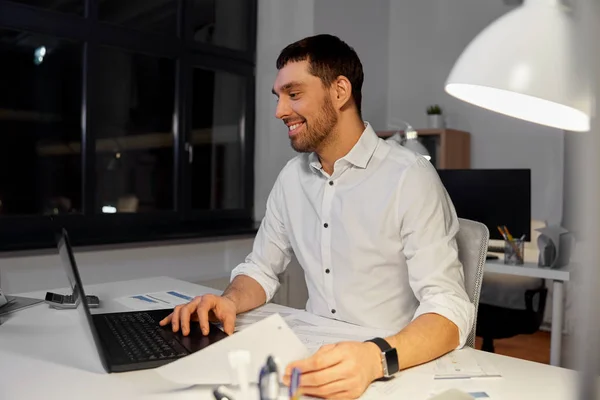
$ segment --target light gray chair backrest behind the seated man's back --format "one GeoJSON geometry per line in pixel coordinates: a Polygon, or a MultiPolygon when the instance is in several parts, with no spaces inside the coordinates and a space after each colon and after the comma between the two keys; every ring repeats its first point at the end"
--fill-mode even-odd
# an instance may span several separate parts
{"type": "Polygon", "coordinates": [[[474,348],[477,309],[479,306],[481,281],[483,280],[483,268],[485,267],[485,257],[487,255],[490,232],[488,228],[480,222],[464,218],[459,218],[458,222],[460,225],[458,234],[456,235],[458,259],[463,265],[465,289],[471,303],[475,306],[473,326],[465,345],[474,348]]]}

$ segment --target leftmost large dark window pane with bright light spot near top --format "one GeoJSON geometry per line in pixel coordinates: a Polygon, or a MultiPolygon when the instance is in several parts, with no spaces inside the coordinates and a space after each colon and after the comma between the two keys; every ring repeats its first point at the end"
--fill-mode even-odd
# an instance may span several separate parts
{"type": "Polygon", "coordinates": [[[0,29],[0,60],[0,215],[81,212],[81,44],[0,29]]]}

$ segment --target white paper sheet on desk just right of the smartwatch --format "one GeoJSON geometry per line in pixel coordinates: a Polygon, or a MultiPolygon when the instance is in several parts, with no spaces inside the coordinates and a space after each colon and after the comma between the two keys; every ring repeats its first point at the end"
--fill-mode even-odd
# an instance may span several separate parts
{"type": "Polygon", "coordinates": [[[454,350],[434,364],[435,379],[470,379],[501,377],[496,367],[471,349],[454,350]]]}

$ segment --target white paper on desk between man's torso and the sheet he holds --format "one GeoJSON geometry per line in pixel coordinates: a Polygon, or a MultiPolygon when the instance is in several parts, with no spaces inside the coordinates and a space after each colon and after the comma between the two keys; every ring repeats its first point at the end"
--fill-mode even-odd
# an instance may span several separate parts
{"type": "Polygon", "coordinates": [[[311,353],[325,344],[365,341],[395,333],[390,330],[364,328],[306,312],[294,313],[286,317],[285,321],[311,353]]]}

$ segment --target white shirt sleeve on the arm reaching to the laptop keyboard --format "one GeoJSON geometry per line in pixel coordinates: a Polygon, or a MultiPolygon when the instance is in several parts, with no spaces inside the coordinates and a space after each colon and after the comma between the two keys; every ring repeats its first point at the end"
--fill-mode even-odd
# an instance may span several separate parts
{"type": "Polygon", "coordinates": [[[231,271],[231,280],[238,275],[247,275],[257,281],[265,291],[269,302],[279,288],[278,274],[285,271],[292,258],[292,249],[283,223],[283,193],[280,180],[277,178],[267,199],[267,208],[254,244],[252,252],[245,261],[231,271]]]}

